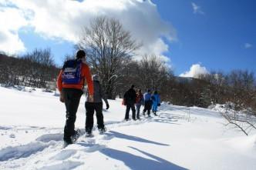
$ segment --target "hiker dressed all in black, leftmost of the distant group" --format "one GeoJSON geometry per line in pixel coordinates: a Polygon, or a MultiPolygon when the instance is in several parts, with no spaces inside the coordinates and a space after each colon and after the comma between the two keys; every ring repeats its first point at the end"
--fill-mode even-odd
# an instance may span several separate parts
{"type": "Polygon", "coordinates": [[[133,112],[133,120],[136,120],[135,115],[136,115],[136,110],[135,110],[135,103],[136,103],[136,92],[134,90],[134,85],[131,85],[130,89],[125,92],[125,94],[123,95],[123,100],[124,100],[124,105],[126,105],[126,115],[125,115],[125,120],[128,121],[129,120],[129,112],[130,112],[130,108],[132,108],[132,112],[133,112]]]}

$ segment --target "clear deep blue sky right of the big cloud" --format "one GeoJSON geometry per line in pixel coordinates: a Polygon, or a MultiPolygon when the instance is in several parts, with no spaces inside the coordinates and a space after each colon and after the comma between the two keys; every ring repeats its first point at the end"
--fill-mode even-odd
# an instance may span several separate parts
{"type": "Polygon", "coordinates": [[[209,71],[256,72],[256,1],[193,1],[200,6],[197,13],[187,0],[153,2],[161,17],[177,29],[179,40],[167,52],[177,74],[195,63],[209,71]]]}

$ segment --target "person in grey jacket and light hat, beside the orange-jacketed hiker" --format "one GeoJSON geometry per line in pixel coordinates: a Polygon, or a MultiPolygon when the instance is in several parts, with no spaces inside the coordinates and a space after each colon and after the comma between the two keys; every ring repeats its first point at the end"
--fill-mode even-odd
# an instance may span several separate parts
{"type": "Polygon", "coordinates": [[[96,111],[99,133],[106,132],[103,121],[103,100],[106,103],[106,109],[109,109],[109,102],[99,83],[99,75],[93,75],[93,89],[93,102],[90,102],[88,88],[86,87],[86,136],[92,135],[94,111],[96,111]]]}

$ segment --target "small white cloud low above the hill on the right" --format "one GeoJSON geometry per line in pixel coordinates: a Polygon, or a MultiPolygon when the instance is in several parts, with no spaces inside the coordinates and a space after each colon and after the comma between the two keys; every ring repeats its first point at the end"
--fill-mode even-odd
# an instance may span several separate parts
{"type": "Polygon", "coordinates": [[[180,77],[198,78],[198,75],[209,74],[207,68],[200,64],[194,64],[190,67],[190,71],[180,74],[180,77]]]}

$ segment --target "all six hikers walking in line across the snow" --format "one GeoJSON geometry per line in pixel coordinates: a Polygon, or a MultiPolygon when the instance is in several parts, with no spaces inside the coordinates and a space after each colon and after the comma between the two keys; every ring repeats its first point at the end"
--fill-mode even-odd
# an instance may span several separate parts
{"type": "MultiPolygon", "coordinates": [[[[99,83],[99,75],[92,76],[90,73],[89,66],[86,64],[86,52],[79,50],[76,52],[75,59],[64,63],[57,78],[57,87],[60,93],[59,100],[66,106],[64,145],[72,144],[79,136],[79,130],[75,130],[75,122],[83,93],[86,93],[86,136],[92,135],[94,111],[96,111],[99,133],[106,132],[103,121],[103,100],[106,103],[106,109],[109,108],[109,102],[99,83]],[[85,82],[87,85],[84,89],[85,82]]],[[[157,91],[151,95],[151,91],[148,89],[147,93],[143,95],[140,89],[136,92],[134,87],[131,85],[131,88],[123,95],[123,105],[126,105],[125,120],[129,120],[130,108],[133,112],[133,120],[140,119],[141,105],[144,105],[143,115],[147,112],[147,115],[150,116],[151,108],[154,115],[157,115],[157,106],[160,106],[160,97],[157,91]]]]}

